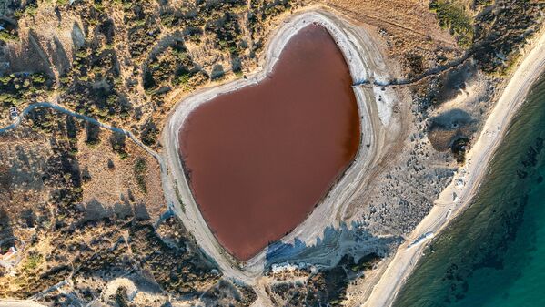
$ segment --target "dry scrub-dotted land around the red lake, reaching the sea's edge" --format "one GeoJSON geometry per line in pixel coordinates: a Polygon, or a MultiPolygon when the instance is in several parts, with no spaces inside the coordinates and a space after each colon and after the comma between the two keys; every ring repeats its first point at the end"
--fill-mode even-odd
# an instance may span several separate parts
{"type": "Polygon", "coordinates": [[[0,306],[388,306],[542,73],[544,11],[538,0],[1,3],[0,306]],[[178,131],[196,107],[267,77],[308,23],[347,62],[358,154],[303,222],[239,261],[199,210],[178,131]]]}

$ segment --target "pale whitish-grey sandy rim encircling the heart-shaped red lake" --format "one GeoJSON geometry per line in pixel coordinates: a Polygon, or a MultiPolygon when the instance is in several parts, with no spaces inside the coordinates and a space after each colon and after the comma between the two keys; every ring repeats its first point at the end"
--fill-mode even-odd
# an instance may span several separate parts
{"type": "MultiPolygon", "coordinates": [[[[246,79],[240,79],[218,87],[205,88],[193,95],[186,97],[170,114],[166,128],[163,132],[163,145],[165,151],[163,156],[168,166],[167,182],[164,182],[164,189],[171,208],[184,221],[187,229],[193,233],[200,247],[214,258],[227,277],[236,278],[254,284],[261,275],[265,261],[266,251],[261,251],[254,258],[246,263],[239,263],[233,259],[218,244],[212,232],[208,229],[197,204],[193,199],[187,185],[187,179],[183,172],[178,157],[178,129],[190,112],[202,103],[207,102],[221,93],[245,87],[259,82],[271,71],[278,56],[286,45],[289,38],[297,33],[298,29],[308,23],[318,23],[325,26],[329,33],[335,38],[347,60],[348,67],[355,83],[368,80],[388,80],[389,69],[386,66],[377,43],[361,27],[351,26],[348,22],[328,13],[323,9],[312,8],[299,12],[288,17],[273,34],[267,45],[267,52],[262,59],[262,70],[247,75],[246,79]],[[176,187],[176,188],[175,188],[176,187]],[[183,201],[183,208],[177,201],[176,190],[183,201]]],[[[328,196],[321,201],[318,208],[314,210],[307,220],[300,224],[282,241],[293,242],[295,238],[307,243],[314,244],[322,234],[326,226],[338,225],[339,217],[345,207],[350,203],[356,193],[362,189],[363,179],[368,175],[369,166],[379,156],[381,143],[385,139],[387,127],[382,123],[388,123],[388,130],[399,129],[399,122],[390,118],[391,105],[378,101],[372,87],[354,87],[358,99],[358,109],[362,117],[362,142],[358,156],[348,168],[345,176],[338,181],[335,187],[328,193],[328,196]],[[380,111],[379,111],[380,108],[380,111]],[[382,115],[382,117],[380,117],[382,115]],[[370,144],[367,147],[367,144],[370,144]]],[[[375,90],[376,92],[376,90],[375,90]]],[[[386,91],[382,94],[384,101],[397,100],[396,92],[386,91]]],[[[331,258],[338,257],[334,252],[327,254],[311,255],[309,257],[331,258]]],[[[259,292],[259,289],[256,289],[259,292]]],[[[260,294],[260,293],[258,293],[260,294]]],[[[261,295],[259,295],[261,297],[261,295]]],[[[260,302],[260,301],[259,301],[260,302]]]]}

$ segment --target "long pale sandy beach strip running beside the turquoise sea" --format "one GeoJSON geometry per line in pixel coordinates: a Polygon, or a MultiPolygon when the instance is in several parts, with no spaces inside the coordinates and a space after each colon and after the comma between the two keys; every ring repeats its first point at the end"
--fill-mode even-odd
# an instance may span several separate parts
{"type": "Polygon", "coordinates": [[[439,195],[429,215],[412,231],[407,242],[399,246],[388,268],[364,306],[390,306],[406,281],[410,271],[422,256],[426,240],[409,248],[426,233],[437,234],[443,230],[450,220],[469,205],[470,200],[479,190],[490,159],[495,149],[507,133],[510,119],[516,114],[530,91],[531,85],[545,71],[545,35],[540,36],[529,48],[531,51],[510,78],[500,99],[489,115],[477,142],[469,150],[467,163],[460,168],[457,175],[439,195]]]}

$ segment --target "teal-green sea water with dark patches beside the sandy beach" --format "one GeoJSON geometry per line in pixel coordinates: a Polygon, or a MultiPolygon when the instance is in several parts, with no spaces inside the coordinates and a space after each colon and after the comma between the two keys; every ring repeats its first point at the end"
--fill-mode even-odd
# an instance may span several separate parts
{"type": "Polygon", "coordinates": [[[545,77],[469,209],[431,242],[394,307],[545,306],[545,77]]]}

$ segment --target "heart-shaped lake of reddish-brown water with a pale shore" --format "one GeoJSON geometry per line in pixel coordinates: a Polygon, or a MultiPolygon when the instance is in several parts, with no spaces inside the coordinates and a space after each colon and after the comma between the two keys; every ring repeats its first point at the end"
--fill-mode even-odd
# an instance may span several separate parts
{"type": "Polygon", "coordinates": [[[217,240],[247,260],[305,220],[354,159],[347,64],[322,26],[298,31],[273,72],[204,103],[180,129],[189,185],[217,240]]]}

